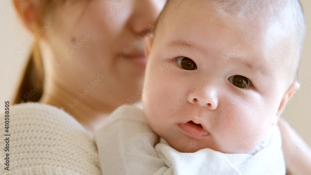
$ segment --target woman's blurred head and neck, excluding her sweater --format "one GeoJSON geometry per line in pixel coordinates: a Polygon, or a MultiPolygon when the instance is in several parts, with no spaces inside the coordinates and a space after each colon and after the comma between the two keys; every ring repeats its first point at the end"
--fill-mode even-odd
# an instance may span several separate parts
{"type": "MultiPolygon", "coordinates": [[[[63,108],[92,135],[110,112],[141,88],[146,64],[143,37],[152,31],[164,4],[164,0],[19,2],[18,14],[26,27],[35,36],[38,30],[42,33],[37,41],[43,58],[40,67],[40,58],[33,54],[39,68],[35,75],[40,76],[34,82],[24,79],[30,89],[22,86],[21,94],[36,83],[44,84],[40,103],[63,108]],[[48,28],[46,21],[51,23],[48,28]],[[75,103],[85,90],[89,94],[75,103]]],[[[35,95],[29,101],[39,100],[41,94],[35,95]]]]}

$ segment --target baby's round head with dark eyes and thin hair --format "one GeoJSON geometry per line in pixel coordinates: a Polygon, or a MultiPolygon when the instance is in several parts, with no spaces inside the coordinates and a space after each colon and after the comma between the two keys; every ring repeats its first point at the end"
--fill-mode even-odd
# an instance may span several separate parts
{"type": "Polygon", "coordinates": [[[168,1],[146,38],[150,126],[181,152],[251,150],[299,88],[304,33],[296,0],[168,1]]]}

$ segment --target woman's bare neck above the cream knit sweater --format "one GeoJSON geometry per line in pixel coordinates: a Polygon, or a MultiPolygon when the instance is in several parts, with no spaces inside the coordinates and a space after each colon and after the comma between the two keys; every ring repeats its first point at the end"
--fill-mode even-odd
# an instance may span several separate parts
{"type": "Polygon", "coordinates": [[[70,81],[68,77],[64,79],[63,76],[57,74],[59,70],[50,66],[55,65],[54,61],[57,59],[54,53],[56,51],[53,52],[50,45],[44,39],[40,40],[39,46],[45,70],[43,95],[39,103],[63,108],[64,111],[72,115],[86,129],[88,134],[92,136],[101,127],[104,120],[107,119],[109,113],[116,107],[108,104],[109,101],[95,99],[99,91],[92,91],[92,95],[86,95],[83,99],[78,98],[78,95],[84,92],[85,89],[81,85],[72,83],[78,80],[70,81]],[[73,99],[77,101],[75,102],[73,99]]]}

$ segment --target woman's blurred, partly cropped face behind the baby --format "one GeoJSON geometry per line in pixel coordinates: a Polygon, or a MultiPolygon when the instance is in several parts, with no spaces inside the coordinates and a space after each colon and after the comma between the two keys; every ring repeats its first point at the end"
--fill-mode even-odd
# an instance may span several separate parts
{"type": "Polygon", "coordinates": [[[54,54],[47,76],[73,97],[87,90],[86,96],[111,108],[139,100],[134,95],[143,85],[144,36],[154,30],[166,0],[72,1],[56,9],[46,32],[54,54]]]}

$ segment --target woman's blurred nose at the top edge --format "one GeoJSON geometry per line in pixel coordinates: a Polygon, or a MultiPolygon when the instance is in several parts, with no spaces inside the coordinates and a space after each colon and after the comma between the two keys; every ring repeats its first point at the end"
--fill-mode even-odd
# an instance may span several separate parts
{"type": "Polygon", "coordinates": [[[144,34],[151,33],[155,29],[156,19],[165,2],[165,0],[134,0],[133,13],[128,21],[133,32],[137,34],[141,32],[144,34]]]}

